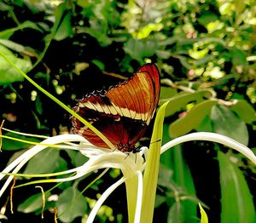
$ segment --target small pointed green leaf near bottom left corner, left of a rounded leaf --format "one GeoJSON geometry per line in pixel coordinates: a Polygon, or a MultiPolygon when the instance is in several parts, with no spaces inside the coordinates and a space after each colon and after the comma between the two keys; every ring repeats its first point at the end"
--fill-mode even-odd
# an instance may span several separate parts
{"type": "MultiPolygon", "coordinates": [[[[45,194],[45,199],[49,197],[49,193],[45,194]]],[[[18,206],[18,211],[23,213],[31,213],[43,207],[43,197],[42,193],[37,193],[27,198],[26,201],[20,203],[18,206]]]]}

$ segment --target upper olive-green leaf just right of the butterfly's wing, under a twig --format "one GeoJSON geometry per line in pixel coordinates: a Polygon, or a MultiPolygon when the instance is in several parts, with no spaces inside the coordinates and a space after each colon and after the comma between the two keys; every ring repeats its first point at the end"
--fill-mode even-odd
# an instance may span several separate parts
{"type": "Polygon", "coordinates": [[[184,109],[189,102],[199,102],[203,100],[204,96],[207,96],[209,94],[210,93],[207,90],[200,90],[196,91],[195,93],[180,93],[172,98],[160,100],[160,104],[162,104],[165,101],[170,101],[168,106],[166,107],[166,117],[168,117],[174,114],[175,112],[184,109]]]}

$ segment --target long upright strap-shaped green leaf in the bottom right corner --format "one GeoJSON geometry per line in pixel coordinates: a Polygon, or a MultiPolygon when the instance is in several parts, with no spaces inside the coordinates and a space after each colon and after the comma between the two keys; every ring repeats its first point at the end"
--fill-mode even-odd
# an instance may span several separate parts
{"type": "Polygon", "coordinates": [[[230,162],[223,152],[218,152],[221,184],[221,222],[253,223],[255,207],[253,196],[241,170],[230,162]]]}

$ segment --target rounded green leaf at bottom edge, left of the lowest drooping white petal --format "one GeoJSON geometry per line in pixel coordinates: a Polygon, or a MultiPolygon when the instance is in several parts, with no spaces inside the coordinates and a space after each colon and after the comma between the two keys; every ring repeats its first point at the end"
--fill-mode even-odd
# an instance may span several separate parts
{"type": "Polygon", "coordinates": [[[77,188],[68,187],[56,202],[58,217],[63,222],[73,222],[79,216],[84,216],[87,203],[77,188]]]}

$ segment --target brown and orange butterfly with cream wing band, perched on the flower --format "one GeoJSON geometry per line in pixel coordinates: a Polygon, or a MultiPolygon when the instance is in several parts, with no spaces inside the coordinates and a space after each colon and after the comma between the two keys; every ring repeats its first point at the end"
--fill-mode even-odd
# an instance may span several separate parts
{"type": "MultiPolygon", "coordinates": [[[[135,146],[143,137],[160,96],[157,66],[146,64],[130,78],[106,90],[96,90],[78,100],[73,111],[92,124],[121,152],[139,152],[135,146]]],[[[73,132],[91,144],[107,148],[107,144],[76,117],[71,117],[73,132]]]]}

